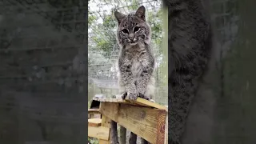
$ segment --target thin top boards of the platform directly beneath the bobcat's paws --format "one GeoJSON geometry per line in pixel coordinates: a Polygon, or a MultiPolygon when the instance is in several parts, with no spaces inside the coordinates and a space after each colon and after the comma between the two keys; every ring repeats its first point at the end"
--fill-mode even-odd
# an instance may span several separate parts
{"type": "Polygon", "coordinates": [[[159,105],[156,102],[150,102],[143,98],[137,98],[135,101],[133,100],[123,100],[122,98],[94,98],[94,101],[98,102],[114,102],[114,103],[124,103],[134,106],[147,106],[147,107],[154,107],[161,110],[168,110],[166,106],[159,105]]]}

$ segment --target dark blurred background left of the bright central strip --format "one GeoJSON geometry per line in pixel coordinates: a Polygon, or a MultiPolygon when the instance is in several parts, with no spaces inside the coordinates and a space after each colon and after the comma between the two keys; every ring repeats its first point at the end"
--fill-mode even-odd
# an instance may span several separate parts
{"type": "Polygon", "coordinates": [[[86,143],[86,1],[0,1],[0,143],[86,143]]]}

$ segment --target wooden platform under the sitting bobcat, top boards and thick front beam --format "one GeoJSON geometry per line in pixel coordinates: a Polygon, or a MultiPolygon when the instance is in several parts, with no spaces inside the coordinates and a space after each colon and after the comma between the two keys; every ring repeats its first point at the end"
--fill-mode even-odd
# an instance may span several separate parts
{"type": "MultiPolygon", "coordinates": [[[[166,137],[168,109],[166,106],[142,98],[138,98],[136,101],[94,98],[93,101],[100,103],[99,112],[102,117],[108,119],[105,126],[109,126],[111,119],[152,144],[168,143],[166,137]]],[[[102,122],[105,121],[102,120],[102,122]]]]}

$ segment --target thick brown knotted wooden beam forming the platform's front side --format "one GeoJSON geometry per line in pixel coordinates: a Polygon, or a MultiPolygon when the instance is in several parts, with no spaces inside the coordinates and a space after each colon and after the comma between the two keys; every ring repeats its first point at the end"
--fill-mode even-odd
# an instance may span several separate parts
{"type": "Polygon", "coordinates": [[[102,102],[100,112],[152,144],[164,144],[166,110],[102,102]]]}

